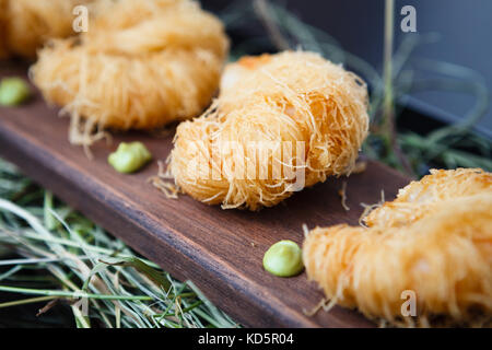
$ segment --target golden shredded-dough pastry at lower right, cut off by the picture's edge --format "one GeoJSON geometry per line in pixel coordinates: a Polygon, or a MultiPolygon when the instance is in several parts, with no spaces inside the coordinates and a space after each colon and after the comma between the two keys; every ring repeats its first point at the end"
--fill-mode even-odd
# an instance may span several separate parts
{"type": "MultiPolygon", "coordinates": [[[[492,174],[431,171],[365,218],[368,228],[316,228],[304,242],[308,278],[333,302],[396,325],[403,291],[417,319],[479,325],[492,315],[492,174]]],[[[413,318],[414,320],[414,318],[413,318]]]]}

